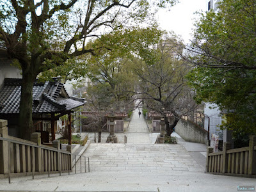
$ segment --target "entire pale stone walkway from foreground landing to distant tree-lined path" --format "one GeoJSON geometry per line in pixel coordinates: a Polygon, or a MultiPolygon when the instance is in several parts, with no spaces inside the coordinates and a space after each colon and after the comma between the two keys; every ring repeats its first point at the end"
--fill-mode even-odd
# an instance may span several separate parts
{"type": "MultiPolygon", "coordinates": [[[[256,179],[204,173],[205,145],[154,143],[157,134],[134,110],[127,144],[91,143],[84,152],[90,157],[90,173],[84,173],[84,159],[70,175],[62,173],[0,180],[0,191],[237,191],[237,186],[255,186],[256,179]]],[[[80,161],[80,160],[79,160],[80,161]]],[[[86,167],[88,170],[88,167],[86,167]]]]}

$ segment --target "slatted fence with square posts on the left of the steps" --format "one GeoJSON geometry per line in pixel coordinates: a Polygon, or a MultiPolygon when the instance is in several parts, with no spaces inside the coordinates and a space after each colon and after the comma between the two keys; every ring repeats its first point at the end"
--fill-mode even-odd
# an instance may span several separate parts
{"type": "Polygon", "coordinates": [[[0,120],[0,174],[8,175],[9,183],[16,173],[32,174],[34,179],[35,173],[72,172],[72,154],[60,150],[58,141],[53,143],[56,148],[41,145],[39,132],[31,134],[31,140],[9,136],[7,121],[0,120]]]}

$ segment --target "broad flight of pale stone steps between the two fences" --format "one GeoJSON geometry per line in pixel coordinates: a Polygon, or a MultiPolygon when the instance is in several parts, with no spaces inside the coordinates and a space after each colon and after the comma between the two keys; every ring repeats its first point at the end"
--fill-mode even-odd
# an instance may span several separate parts
{"type": "Polygon", "coordinates": [[[204,172],[180,145],[91,143],[84,156],[92,172],[204,172]]]}

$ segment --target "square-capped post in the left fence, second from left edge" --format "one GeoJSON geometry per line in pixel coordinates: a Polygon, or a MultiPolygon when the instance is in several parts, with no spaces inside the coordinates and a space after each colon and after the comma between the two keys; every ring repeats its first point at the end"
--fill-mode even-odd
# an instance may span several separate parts
{"type": "MultiPolygon", "coordinates": [[[[41,132],[33,132],[30,136],[30,140],[36,143],[38,146],[41,145],[41,132]]],[[[42,154],[41,148],[35,147],[35,171],[42,172],[42,154]]]]}

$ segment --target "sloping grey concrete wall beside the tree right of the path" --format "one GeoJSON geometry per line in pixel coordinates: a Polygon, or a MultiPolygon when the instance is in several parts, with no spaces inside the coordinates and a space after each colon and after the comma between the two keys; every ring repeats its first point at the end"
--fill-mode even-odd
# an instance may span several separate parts
{"type": "Polygon", "coordinates": [[[196,126],[192,122],[179,120],[175,132],[185,141],[207,144],[207,131],[196,126]]]}

